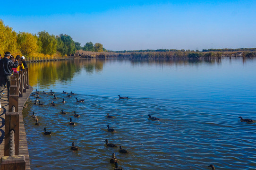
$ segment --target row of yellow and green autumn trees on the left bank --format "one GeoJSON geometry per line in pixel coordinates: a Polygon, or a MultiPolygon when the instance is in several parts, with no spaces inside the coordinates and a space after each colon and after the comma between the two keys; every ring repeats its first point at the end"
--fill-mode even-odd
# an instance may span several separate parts
{"type": "Polygon", "coordinates": [[[81,49],[94,52],[106,51],[101,43],[93,44],[93,42],[87,42],[82,47],[81,43],[75,42],[67,34],[55,36],[46,31],[41,31],[37,34],[16,33],[11,27],[5,26],[3,21],[0,20],[0,54],[2,56],[5,51],[32,57],[38,55],[69,56],[81,49]]]}

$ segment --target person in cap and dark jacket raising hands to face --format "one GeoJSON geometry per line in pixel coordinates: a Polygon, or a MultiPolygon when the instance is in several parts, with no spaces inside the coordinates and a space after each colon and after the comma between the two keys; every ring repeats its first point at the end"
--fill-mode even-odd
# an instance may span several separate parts
{"type": "Polygon", "coordinates": [[[11,59],[9,59],[11,56],[11,53],[9,51],[6,51],[4,54],[4,58],[0,60],[0,96],[2,96],[4,86],[7,85],[7,92],[8,92],[8,101],[9,101],[9,92],[10,92],[10,84],[11,84],[11,74],[12,74],[12,68],[18,67],[18,61],[15,60],[13,62],[11,59]]]}

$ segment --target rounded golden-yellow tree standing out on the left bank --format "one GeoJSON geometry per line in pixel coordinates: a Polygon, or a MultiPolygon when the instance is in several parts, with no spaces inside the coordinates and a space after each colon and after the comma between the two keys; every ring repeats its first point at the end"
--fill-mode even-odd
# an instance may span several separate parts
{"type": "Polygon", "coordinates": [[[28,56],[33,52],[37,52],[37,38],[34,37],[33,34],[30,33],[19,33],[17,34],[17,47],[20,52],[28,56]]]}

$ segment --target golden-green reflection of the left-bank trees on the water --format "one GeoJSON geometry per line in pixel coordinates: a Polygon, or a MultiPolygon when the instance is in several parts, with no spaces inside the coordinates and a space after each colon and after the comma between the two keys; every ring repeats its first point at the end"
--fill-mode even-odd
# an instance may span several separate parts
{"type": "Polygon", "coordinates": [[[57,81],[70,82],[75,74],[79,74],[84,68],[87,73],[100,72],[103,68],[103,60],[74,59],[71,61],[52,61],[29,63],[29,84],[54,85],[57,81]]]}

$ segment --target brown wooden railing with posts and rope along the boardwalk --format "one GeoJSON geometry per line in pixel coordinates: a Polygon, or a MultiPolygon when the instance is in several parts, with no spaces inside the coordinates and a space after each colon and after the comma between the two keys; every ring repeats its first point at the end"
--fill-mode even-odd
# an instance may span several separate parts
{"type": "Polygon", "coordinates": [[[11,76],[9,92],[9,112],[5,114],[4,156],[0,170],[26,170],[24,155],[19,155],[19,113],[18,98],[26,93],[28,68],[11,76]]]}

